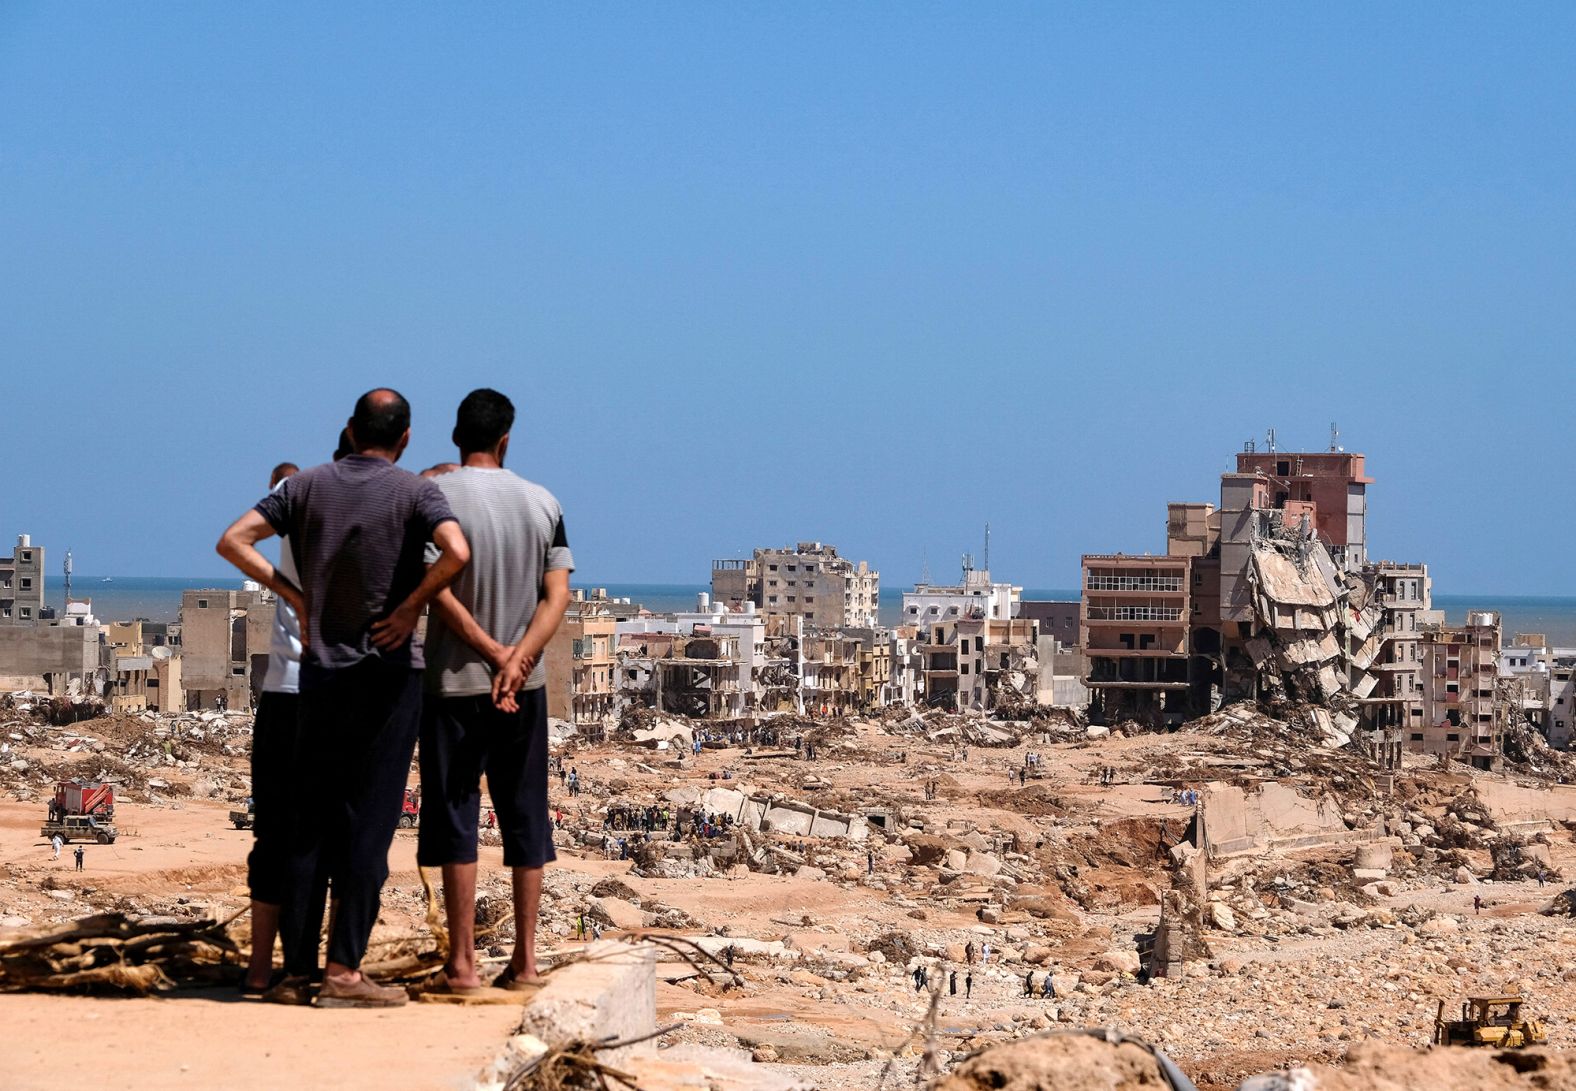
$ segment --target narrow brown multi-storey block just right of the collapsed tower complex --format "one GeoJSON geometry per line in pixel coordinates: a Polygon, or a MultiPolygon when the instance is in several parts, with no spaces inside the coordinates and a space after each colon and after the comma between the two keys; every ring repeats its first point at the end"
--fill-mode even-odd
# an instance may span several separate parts
{"type": "Polygon", "coordinates": [[[1423,722],[1407,732],[1407,749],[1494,765],[1505,727],[1494,692],[1499,637],[1499,615],[1491,610],[1469,610],[1459,626],[1423,626],[1423,722]]]}

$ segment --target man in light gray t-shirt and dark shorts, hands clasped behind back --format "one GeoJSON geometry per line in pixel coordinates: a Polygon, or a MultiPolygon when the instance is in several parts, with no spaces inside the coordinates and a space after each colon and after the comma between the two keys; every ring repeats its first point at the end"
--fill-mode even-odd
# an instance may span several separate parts
{"type": "Polygon", "coordinates": [[[416,859],[443,869],[449,965],[440,989],[476,976],[476,828],[481,776],[514,872],[514,959],[493,982],[536,977],[542,867],[555,859],[547,817],[547,692],[542,650],[569,604],[574,558],[558,500],[503,468],[514,405],[493,389],[460,402],[460,468],[435,478],[470,542],[470,566],[433,599],[421,724],[416,859]]]}

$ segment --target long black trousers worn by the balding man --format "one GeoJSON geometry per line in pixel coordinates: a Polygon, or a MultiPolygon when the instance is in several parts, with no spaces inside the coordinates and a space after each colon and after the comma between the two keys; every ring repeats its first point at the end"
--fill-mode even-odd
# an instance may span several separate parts
{"type": "Polygon", "coordinates": [[[325,883],[339,905],[328,960],[356,968],[389,877],[389,845],[421,728],[421,672],[378,657],[303,678],[292,755],[285,971],[317,970],[325,883]]]}

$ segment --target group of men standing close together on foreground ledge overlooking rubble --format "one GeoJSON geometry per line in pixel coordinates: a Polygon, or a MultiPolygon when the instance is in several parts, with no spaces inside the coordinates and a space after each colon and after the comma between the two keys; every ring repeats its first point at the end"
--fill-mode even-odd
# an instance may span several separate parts
{"type": "MultiPolygon", "coordinates": [[[[416,859],[443,872],[451,936],[432,989],[482,987],[474,892],[484,774],[515,891],[515,948],[492,984],[534,987],[542,869],[556,856],[542,654],[569,604],[574,560],[558,500],[504,468],[514,423],[506,396],[471,391],[454,415],[459,460],[414,475],[397,465],[410,404],[389,388],[367,391],[333,459],[306,470],[279,464],[269,492],[219,539],[221,557],[279,596],[252,743],[249,996],[405,1003],[405,990],[370,981],[361,963],[418,739],[416,859]],[[282,539],[277,564],[258,549],[273,536],[282,539]]],[[[575,793],[575,771],[563,776],[575,793]]]]}

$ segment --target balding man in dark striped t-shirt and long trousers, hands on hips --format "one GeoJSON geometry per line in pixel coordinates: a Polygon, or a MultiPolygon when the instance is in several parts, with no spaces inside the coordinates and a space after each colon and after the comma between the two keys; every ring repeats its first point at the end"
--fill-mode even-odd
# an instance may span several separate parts
{"type": "Polygon", "coordinates": [[[470,547],[432,481],[394,464],[410,443],[397,391],[361,396],[347,427],[353,452],[304,470],[241,516],[219,553],[273,588],[301,618],[301,713],[292,758],[288,877],[279,913],[285,979],[266,995],[309,1003],[326,878],[337,908],[320,1007],[388,1007],[400,989],[361,974],[388,880],[421,721],[427,602],[465,568],[470,547]],[[285,534],[299,588],[257,550],[285,534]],[[438,560],[424,566],[426,542],[438,560]]]}

